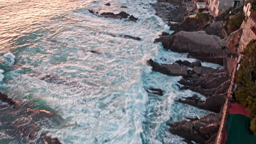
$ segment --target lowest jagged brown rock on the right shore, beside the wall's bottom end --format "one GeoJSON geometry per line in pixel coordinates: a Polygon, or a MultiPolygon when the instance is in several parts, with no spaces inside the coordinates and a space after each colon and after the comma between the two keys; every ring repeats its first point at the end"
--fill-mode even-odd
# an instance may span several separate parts
{"type": "Polygon", "coordinates": [[[218,132],[220,115],[209,113],[208,115],[194,121],[181,121],[168,123],[170,132],[196,143],[205,143],[218,132]],[[209,130],[209,131],[207,131],[209,130]]]}

